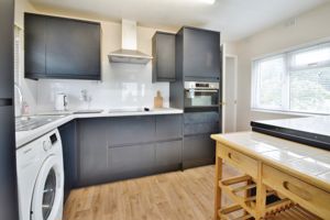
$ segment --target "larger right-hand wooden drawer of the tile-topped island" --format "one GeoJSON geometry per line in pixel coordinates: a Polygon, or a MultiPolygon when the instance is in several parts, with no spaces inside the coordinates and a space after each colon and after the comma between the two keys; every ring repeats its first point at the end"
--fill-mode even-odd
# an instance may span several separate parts
{"type": "Polygon", "coordinates": [[[329,193],[267,165],[263,165],[263,182],[305,209],[323,219],[329,219],[329,193]]]}

